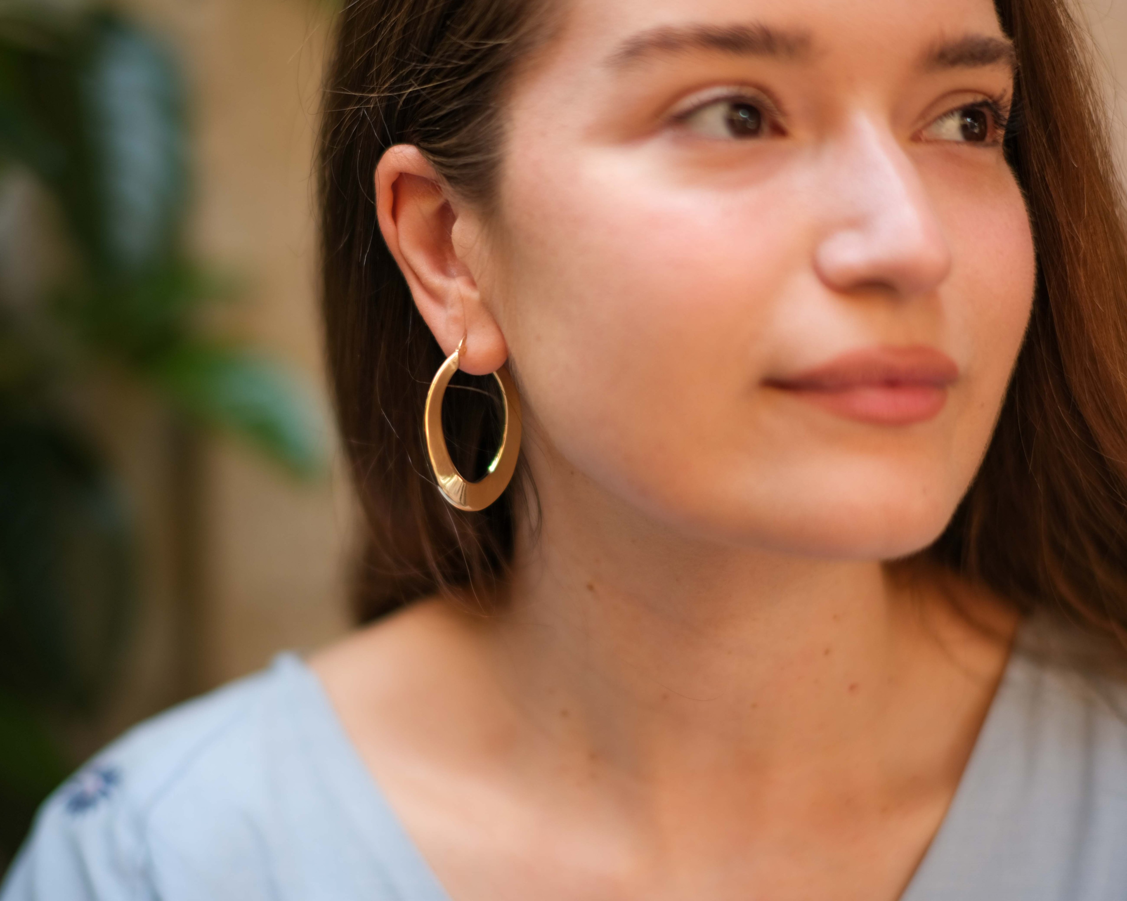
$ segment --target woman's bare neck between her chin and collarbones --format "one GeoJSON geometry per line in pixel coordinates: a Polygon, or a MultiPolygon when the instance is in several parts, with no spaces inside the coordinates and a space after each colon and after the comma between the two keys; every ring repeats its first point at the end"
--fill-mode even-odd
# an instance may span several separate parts
{"type": "Polygon", "coordinates": [[[879,768],[880,744],[908,770],[915,752],[961,770],[1008,615],[991,635],[933,573],[694,539],[574,479],[538,475],[538,489],[492,646],[553,753],[677,784],[833,774],[851,757],[879,768]],[[929,722],[943,715],[967,722],[967,741],[935,751],[929,722]]]}

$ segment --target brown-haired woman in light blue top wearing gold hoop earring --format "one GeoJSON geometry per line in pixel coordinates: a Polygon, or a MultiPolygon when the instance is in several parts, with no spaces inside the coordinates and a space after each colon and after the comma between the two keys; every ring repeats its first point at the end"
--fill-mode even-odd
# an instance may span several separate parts
{"type": "Polygon", "coordinates": [[[1080,46],[1056,0],[348,5],[375,622],[99,756],[3,901],[1124,896],[1127,240],[1080,46]]]}

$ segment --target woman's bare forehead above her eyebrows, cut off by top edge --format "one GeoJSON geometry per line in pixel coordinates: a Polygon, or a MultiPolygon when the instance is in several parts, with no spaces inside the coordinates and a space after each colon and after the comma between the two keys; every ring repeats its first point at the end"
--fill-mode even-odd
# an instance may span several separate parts
{"type": "Polygon", "coordinates": [[[647,35],[702,27],[765,28],[798,39],[796,61],[875,68],[965,34],[1002,36],[992,0],[568,0],[553,50],[606,66],[647,35]]]}

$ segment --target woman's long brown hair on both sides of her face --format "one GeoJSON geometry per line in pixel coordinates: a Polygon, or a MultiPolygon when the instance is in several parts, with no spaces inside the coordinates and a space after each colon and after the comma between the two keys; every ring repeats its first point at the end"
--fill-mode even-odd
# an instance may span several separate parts
{"type": "MultiPolygon", "coordinates": [[[[1127,630],[1127,230],[1084,38],[1058,0],[996,0],[1017,45],[1006,153],[1032,222],[1029,332],[970,490],[929,553],[1022,609],[1127,630]]],[[[383,151],[418,145],[488,205],[505,88],[543,30],[536,0],[352,0],[339,14],[320,137],[323,314],[337,416],[367,534],[356,613],[504,580],[525,475],[483,512],[440,497],[423,438],[443,355],[376,222],[383,151]]],[[[490,380],[491,381],[491,380],[490,380]]],[[[473,467],[488,405],[447,395],[446,435],[473,467]]],[[[480,466],[480,463],[478,463],[480,466]]],[[[463,471],[467,471],[463,469],[463,471]]]]}

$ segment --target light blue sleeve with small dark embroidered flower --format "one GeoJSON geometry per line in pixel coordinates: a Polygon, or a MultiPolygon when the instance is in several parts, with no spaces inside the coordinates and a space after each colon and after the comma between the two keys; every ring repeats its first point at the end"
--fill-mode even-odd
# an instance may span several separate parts
{"type": "Polygon", "coordinates": [[[123,774],[91,764],[46,801],[0,901],[156,901],[123,774]]]}

